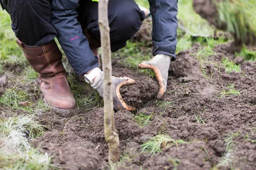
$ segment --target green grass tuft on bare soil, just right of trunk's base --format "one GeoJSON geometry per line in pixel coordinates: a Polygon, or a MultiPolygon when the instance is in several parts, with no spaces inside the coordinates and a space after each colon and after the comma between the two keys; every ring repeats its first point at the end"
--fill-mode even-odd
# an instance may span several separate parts
{"type": "Polygon", "coordinates": [[[184,143],[187,142],[182,139],[174,140],[169,135],[158,134],[155,137],[144,142],[140,150],[143,153],[149,153],[150,155],[152,155],[161,151],[161,149],[165,147],[169,147],[171,145],[176,145],[178,147],[178,144],[184,143]]]}

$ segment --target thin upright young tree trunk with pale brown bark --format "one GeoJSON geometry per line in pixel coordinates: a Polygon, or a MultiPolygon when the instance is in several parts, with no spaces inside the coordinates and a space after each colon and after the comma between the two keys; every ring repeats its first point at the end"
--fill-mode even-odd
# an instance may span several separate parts
{"type": "Polygon", "coordinates": [[[98,22],[101,41],[101,58],[103,67],[103,83],[104,83],[104,135],[108,143],[108,160],[117,162],[119,159],[119,138],[117,130],[114,126],[113,118],[113,96],[111,89],[111,50],[110,36],[107,13],[108,0],[99,0],[98,2],[98,22]]]}

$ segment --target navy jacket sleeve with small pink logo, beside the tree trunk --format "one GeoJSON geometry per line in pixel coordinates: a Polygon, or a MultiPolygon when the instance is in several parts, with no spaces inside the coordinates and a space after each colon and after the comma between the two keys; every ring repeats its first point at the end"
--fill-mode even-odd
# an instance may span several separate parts
{"type": "Polygon", "coordinates": [[[89,42],[77,21],[76,8],[79,0],[52,0],[52,23],[57,29],[57,38],[71,66],[78,74],[98,66],[89,42]]]}

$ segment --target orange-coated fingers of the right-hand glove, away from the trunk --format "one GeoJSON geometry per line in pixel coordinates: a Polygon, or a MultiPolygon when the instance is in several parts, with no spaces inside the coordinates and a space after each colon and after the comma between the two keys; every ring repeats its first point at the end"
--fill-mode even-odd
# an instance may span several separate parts
{"type": "Polygon", "coordinates": [[[157,94],[157,98],[158,99],[161,98],[165,93],[165,81],[163,79],[163,76],[161,75],[160,69],[156,65],[150,63],[149,61],[144,61],[140,63],[138,67],[140,69],[152,69],[155,72],[155,75],[157,77],[158,84],[159,84],[159,91],[157,94]]]}

